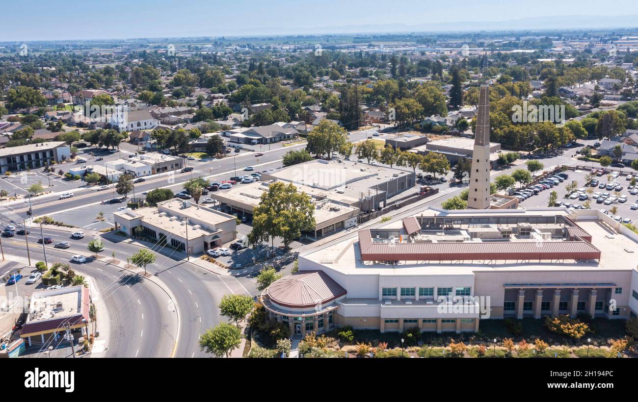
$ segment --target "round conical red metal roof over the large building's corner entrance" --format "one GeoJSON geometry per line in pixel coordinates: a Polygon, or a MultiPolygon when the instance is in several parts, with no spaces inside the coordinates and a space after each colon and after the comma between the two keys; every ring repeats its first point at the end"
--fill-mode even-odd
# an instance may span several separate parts
{"type": "Polygon", "coordinates": [[[300,271],[273,282],[267,289],[272,303],[290,308],[313,307],[346,294],[323,271],[300,271]]]}

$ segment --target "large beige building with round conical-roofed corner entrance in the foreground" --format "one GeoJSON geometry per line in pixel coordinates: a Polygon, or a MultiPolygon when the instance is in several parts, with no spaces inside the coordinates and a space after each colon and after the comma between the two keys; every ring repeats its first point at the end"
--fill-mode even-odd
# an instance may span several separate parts
{"type": "Polygon", "coordinates": [[[262,300],[297,335],[323,331],[318,320],[328,317],[382,332],[457,333],[507,317],[627,319],[638,312],[634,252],[638,234],[598,210],[424,206],[302,252],[299,273],[262,300]]]}

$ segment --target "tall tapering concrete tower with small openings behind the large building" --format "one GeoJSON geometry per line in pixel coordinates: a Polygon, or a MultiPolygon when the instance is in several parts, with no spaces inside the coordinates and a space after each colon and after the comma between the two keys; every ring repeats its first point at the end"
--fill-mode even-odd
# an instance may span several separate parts
{"type": "Polygon", "coordinates": [[[477,115],[468,209],[489,209],[489,86],[481,85],[477,115]]]}

